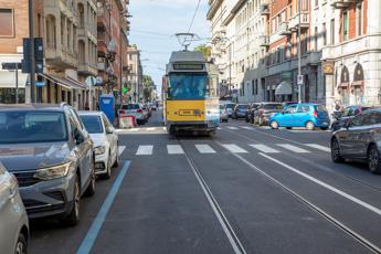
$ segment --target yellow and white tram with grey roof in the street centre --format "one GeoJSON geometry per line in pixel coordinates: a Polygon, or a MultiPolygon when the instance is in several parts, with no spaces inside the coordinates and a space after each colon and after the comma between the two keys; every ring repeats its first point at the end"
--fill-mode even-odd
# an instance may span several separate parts
{"type": "Polygon", "coordinates": [[[162,80],[167,130],[215,134],[220,123],[218,71],[201,52],[172,52],[162,80]]]}

